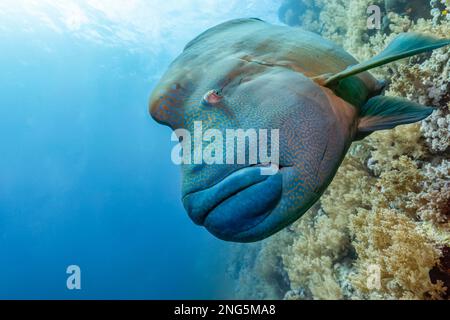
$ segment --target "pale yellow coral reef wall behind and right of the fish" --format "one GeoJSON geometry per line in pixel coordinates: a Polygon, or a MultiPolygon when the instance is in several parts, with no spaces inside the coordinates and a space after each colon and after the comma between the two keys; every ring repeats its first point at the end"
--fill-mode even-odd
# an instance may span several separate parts
{"type": "MultiPolygon", "coordinates": [[[[286,0],[280,19],[365,60],[400,32],[450,34],[450,1],[419,2],[410,10],[405,1],[286,0]],[[367,30],[372,4],[385,17],[375,32],[367,30]]],[[[354,143],[315,207],[274,237],[237,246],[241,298],[449,298],[449,58],[443,48],[373,71],[388,81],[386,95],[436,111],[354,143]]]]}

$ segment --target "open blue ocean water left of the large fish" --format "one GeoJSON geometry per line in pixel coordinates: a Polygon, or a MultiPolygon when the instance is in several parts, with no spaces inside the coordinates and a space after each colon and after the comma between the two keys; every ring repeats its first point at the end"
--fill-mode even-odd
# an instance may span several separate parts
{"type": "Polygon", "coordinates": [[[204,27],[275,19],[279,4],[205,1],[200,14],[198,4],[0,5],[0,298],[232,297],[230,245],[184,212],[170,130],[147,101],[204,27]],[[69,265],[81,290],[66,287],[69,265]]]}

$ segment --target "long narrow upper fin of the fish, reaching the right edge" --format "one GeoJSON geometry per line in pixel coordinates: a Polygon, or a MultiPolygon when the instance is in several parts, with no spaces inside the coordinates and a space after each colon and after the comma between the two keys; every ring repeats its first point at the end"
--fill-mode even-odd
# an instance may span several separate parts
{"type": "Polygon", "coordinates": [[[386,49],[372,59],[350,66],[344,71],[336,74],[319,76],[315,80],[326,87],[334,87],[340,80],[355,74],[419,53],[432,51],[449,44],[450,40],[448,39],[436,39],[417,33],[402,33],[397,36],[386,49]]]}

